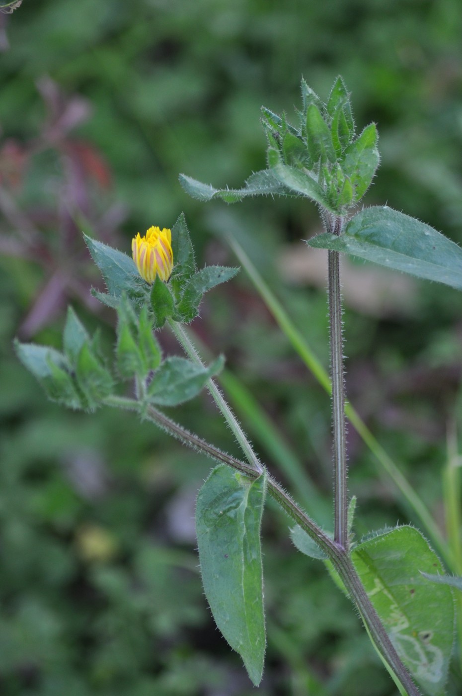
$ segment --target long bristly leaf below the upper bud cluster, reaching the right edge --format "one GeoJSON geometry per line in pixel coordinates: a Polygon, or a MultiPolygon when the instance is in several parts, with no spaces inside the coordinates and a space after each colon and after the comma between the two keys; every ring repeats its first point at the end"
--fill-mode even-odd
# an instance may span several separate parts
{"type": "Polygon", "coordinates": [[[341,237],[318,235],[308,244],[462,290],[462,249],[429,225],[386,206],[358,212],[341,237]]]}

